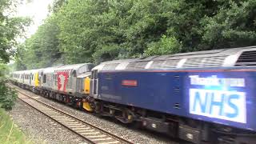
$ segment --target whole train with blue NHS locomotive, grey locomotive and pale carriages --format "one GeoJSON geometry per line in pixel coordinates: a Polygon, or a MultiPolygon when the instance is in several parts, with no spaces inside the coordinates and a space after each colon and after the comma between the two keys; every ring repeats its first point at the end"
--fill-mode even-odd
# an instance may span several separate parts
{"type": "Polygon", "coordinates": [[[16,71],[22,88],[202,143],[256,142],[256,46],[16,71]]]}

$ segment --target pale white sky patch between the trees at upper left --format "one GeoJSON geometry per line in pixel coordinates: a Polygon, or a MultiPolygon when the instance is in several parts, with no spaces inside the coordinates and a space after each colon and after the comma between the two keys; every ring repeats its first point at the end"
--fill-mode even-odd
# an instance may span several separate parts
{"type": "Polygon", "coordinates": [[[49,14],[48,6],[54,0],[23,0],[22,5],[18,6],[17,16],[28,16],[33,22],[26,30],[26,36],[29,38],[42,25],[43,20],[49,14]]]}

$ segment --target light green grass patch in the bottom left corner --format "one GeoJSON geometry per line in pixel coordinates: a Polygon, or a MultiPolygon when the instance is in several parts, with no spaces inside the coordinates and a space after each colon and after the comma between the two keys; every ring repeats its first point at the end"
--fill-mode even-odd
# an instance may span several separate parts
{"type": "Polygon", "coordinates": [[[0,143],[32,143],[26,140],[22,131],[18,130],[18,128],[14,126],[14,122],[10,119],[10,116],[2,109],[0,109],[0,143]]]}

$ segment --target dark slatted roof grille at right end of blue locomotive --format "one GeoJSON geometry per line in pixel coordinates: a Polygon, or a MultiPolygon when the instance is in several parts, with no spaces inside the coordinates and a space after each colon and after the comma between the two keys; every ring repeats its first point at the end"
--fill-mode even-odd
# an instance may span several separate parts
{"type": "Polygon", "coordinates": [[[256,50],[242,52],[235,66],[256,66],[256,50]]]}

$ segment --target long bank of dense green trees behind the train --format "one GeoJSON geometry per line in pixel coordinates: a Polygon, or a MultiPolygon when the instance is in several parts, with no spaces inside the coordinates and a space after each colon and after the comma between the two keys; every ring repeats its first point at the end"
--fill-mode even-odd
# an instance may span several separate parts
{"type": "Polygon", "coordinates": [[[18,70],[256,44],[254,0],[55,0],[18,70]]]}

